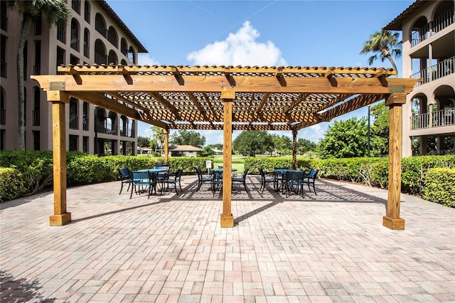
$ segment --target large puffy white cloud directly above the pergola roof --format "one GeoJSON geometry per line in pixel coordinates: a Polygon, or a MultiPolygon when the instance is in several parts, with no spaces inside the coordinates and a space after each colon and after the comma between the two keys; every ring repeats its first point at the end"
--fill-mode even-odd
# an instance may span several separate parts
{"type": "Polygon", "coordinates": [[[287,65],[281,50],[272,41],[257,41],[259,36],[250,21],[245,21],[237,33],[189,53],[187,59],[194,65],[287,65]]]}

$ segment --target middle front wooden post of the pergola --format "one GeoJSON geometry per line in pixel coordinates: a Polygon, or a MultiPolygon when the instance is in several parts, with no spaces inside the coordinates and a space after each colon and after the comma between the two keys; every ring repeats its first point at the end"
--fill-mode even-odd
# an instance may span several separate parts
{"type": "Polygon", "coordinates": [[[232,102],[235,99],[235,92],[221,92],[223,99],[223,213],[220,223],[222,228],[234,227],[234,217],[231,213],[232,200],[232,102]]]}

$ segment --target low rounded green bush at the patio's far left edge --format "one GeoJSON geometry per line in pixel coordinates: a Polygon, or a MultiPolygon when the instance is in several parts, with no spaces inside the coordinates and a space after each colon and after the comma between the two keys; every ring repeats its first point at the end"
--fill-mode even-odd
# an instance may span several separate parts
{"type": "Polygon", "coordinates": [[[19,198],[25,193],[21,173],[17,169],[0,167],[0,203],[19,198]]]}

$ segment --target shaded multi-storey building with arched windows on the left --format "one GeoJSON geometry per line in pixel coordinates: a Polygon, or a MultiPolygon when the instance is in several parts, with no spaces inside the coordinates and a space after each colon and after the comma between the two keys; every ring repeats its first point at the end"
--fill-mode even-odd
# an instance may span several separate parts
{"type": "MultiPolygon", "coordinates": [[[[1,102],[0,150],[17,149],[18,92],[16,49],[22,16],[0,2],[1,102]]],[[[53,75],[59,65],[137,64],[138,53],[147,53],[106,1],[71,0],[68,26],[48,28],[34,23],[25,53],[26,149],[52,149],[52,114],[45,92],[30,75],[53,75]]],[[[66,147],[90,154],[135,154],[137,121],[116,112],[70,99],[66,105],[66,147]]]]}

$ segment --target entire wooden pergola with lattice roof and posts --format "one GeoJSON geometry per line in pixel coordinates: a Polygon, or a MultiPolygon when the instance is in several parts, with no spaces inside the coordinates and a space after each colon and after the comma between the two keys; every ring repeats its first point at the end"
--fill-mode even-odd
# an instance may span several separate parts
{"type": "MultiPolygon", "coordinates": [[[[289,130],[296,164],[299,129],[385,99],[390,108],[389,189],[382,224],[404,229],[400,218],[402,104],[418,79],[390,78],[386,68],[257,66],[68,65],[59,75],[33,75],[52,102],[54,214],[50,225],[71,221],[66,209],[65,104],[70,97],[164,129],[223,129],[223,213],[231,213],[232,130],[289,130]]],[[[167,159],[165,159],[167,161],[167,159]]]]}

